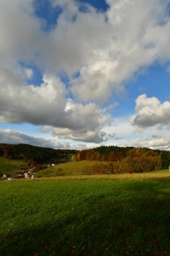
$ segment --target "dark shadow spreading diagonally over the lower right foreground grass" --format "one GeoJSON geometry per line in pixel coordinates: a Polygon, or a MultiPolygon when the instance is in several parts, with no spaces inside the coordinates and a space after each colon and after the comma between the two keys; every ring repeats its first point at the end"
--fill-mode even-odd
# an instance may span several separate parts
{"type": "Polygon", "coordinates": [[[170,255],[168,187],[155,179],[101,189],[58,220],[9,232],[0,255],[170,255]]]}

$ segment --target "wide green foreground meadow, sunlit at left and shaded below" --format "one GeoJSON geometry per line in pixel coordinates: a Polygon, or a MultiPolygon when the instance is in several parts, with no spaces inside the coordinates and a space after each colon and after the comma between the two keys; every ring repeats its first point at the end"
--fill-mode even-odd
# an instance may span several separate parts
{"type": "Polygon", "coordinates": [[[169,182],[1,181],[0,255],[170,255],[169,182]]]}

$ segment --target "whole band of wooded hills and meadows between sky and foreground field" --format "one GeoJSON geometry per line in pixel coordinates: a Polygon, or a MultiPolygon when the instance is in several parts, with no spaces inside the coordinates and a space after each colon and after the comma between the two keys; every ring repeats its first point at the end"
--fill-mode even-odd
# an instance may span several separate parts
{"type": "Polygon", "coordinates": [[[30,166],[41,170],[38,177],[151,172],[166,169],[170,164],[170,152],[118,146],[78,152],[28,144],[0,144],[0,156],[1,174],[19,172],[24,166],[28,169],[30,166]]]}

